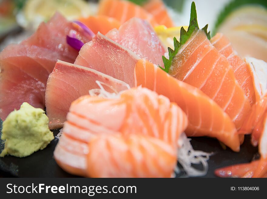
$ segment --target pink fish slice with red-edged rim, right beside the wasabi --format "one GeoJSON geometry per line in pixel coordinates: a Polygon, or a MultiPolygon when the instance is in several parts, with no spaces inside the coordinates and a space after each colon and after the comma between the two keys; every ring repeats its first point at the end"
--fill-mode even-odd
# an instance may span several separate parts
{"type": "Polygon", "coordinates": [[[105,89],[109,92],[128,88],[125,82],[91,68],[60,60],[56,62],[46,88],[46,114],[50,129],[63,127],[70,104],[82,95],[88,95],[90,89],[99,88],[96,80],[108,85],[105,89]]]}

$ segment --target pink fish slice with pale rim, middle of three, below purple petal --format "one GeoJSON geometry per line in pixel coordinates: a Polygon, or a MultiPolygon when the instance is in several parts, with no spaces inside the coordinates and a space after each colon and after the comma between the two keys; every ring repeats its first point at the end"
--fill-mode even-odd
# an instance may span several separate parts
{"type": "Polygon", "coordinates": [[[140,59],[134,52],[97,33],[83,45],[74,64],[95,69],[134,86],[134,67],[140,59]]]}

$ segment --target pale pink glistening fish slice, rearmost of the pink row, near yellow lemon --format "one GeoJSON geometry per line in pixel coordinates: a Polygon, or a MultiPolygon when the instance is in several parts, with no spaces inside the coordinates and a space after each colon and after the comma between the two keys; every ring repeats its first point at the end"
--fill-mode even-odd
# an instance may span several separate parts
{"type": "Polygon", "coordinates": [[[161,44],[150,24],[140,18],[131,18],[119,30],[112,29],[106,36],[125,48],[129,48],[140,58],[156,65],[163,65],[165,47],[161,44]]]}

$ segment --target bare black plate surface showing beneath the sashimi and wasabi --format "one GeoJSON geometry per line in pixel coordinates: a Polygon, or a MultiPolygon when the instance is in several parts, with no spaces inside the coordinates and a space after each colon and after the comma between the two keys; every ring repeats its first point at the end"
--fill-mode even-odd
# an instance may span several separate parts
{"type": "MultiPolygon", "coordinates": [[[[59,130],[53,131],[56,136],[59,130]]],[[[214,170],[232,164],[250,162],[258,156],[257,148],[250,144],[250,136],[245,136],[239,153],[227,148],[223,150],[219,142],[212,138],[191,138],[191,144],[195,150],[214,152],[208,161],[209,170],[204,177],[215,177],[214,170]]],[[[63,171],[53,158],[53,151],[58,139],[55,138],[44,150],[37,151],[25,158],[5,156],[0,158],[0,170],[16,177],[77,177],[63,171]]],[[[0,143],[2,151],[3,143],[0,143]]],[[[185,177],[183,173],[179,177],[185,177]]]]}

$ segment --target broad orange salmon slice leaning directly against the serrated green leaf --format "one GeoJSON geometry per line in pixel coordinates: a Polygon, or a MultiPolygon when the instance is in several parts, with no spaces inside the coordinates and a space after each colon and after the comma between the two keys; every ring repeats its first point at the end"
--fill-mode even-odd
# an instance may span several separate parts
{"type": "Polygon", "coordinates": [[[169,74],[193,85],[214,100],[241,128],[251,110],[248,98],[235,79],[234,71],[211,45],[203,30],[195,31],[173,57],[169,74]]]}

